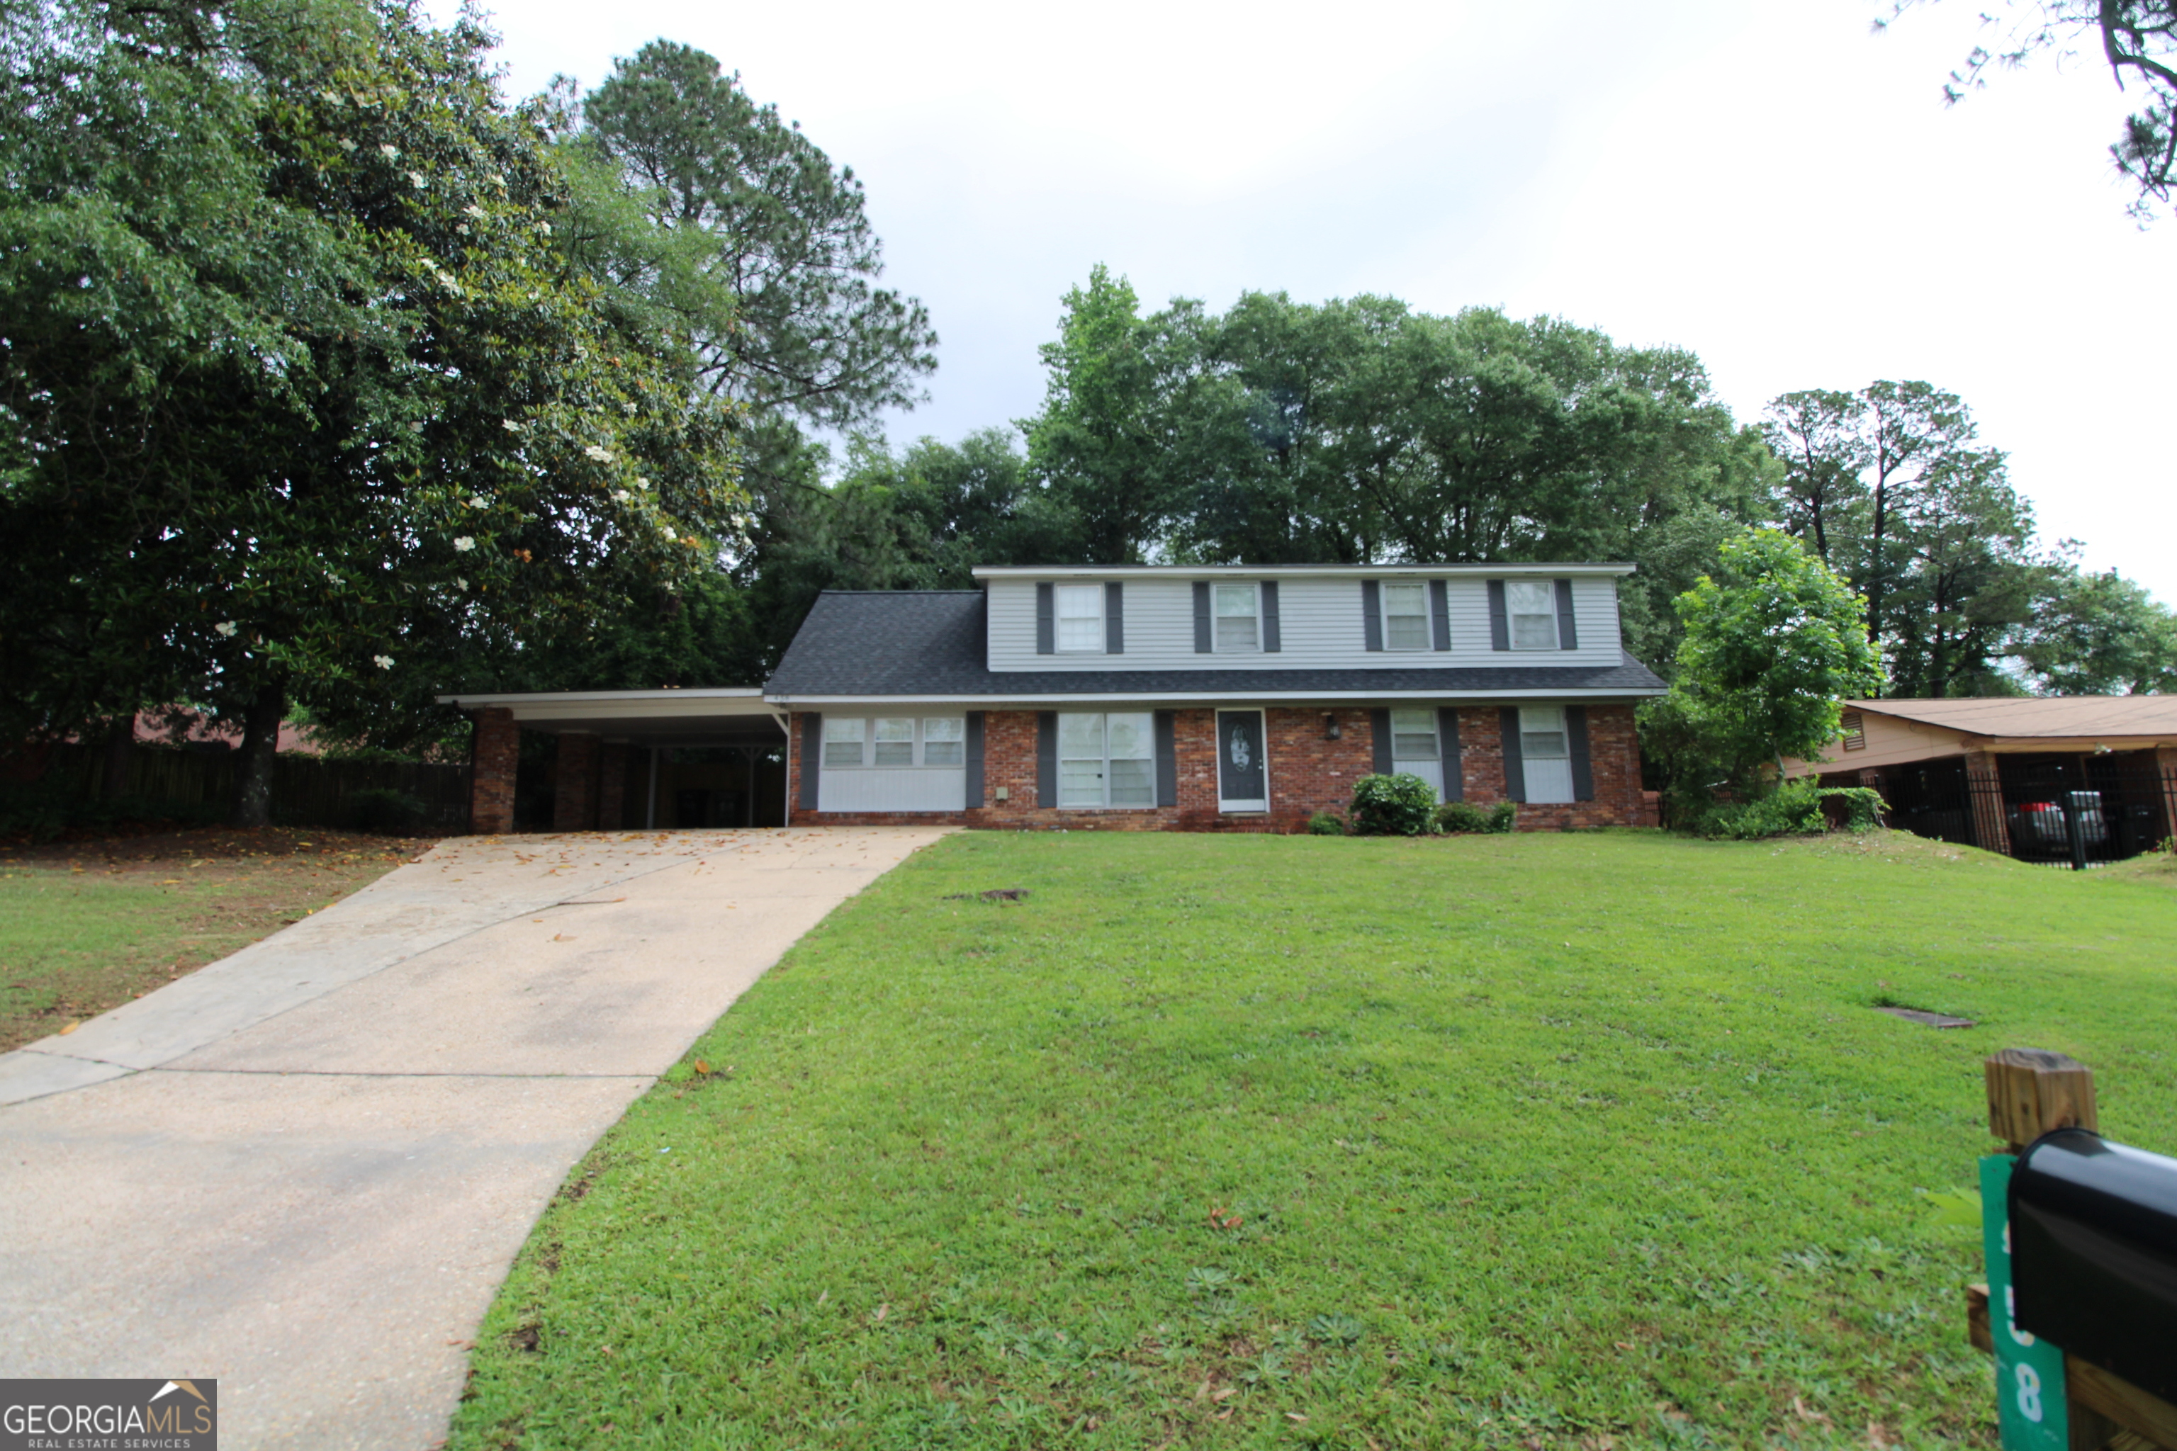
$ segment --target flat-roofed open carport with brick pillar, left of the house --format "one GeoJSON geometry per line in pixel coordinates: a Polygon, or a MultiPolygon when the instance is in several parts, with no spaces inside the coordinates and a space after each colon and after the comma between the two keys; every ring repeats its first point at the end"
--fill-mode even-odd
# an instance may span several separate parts
{"type": "Polygon", "coordinates": [[[786,716],[762,690],[568,690],[438,700],[477,722],[470,831],[786,824],[786,716]],[[522,731],[555,735],[557,751],[549,783],[536,783],[546,790],[529,792],[518,827],[522,731]]]}

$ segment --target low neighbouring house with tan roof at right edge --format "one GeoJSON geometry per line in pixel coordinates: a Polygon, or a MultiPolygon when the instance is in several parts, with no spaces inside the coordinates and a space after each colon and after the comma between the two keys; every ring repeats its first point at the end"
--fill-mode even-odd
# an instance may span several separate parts
{"type": "Polygon", "coordinates": [[[2057,855],[2086,792],[2107,855],[2177,835],[2177,696],[1846,700],[1842,735],[1785,774],[1872,785],[1896,827],[2012,855],[2057,855]]]}

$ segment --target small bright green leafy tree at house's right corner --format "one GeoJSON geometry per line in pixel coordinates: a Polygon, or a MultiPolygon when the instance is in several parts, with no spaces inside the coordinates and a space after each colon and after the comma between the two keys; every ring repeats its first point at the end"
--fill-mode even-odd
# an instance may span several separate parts
{"type": "Polygon", "coordinates": [[[1681,796],[1774,790],[1783,757],[1818,757],[1842,703],[1883,685],[1866,600],[1787,533],[1726,540],[1676,611],[1678,679],[1641,707],[1641,735],[1681,796]]]}

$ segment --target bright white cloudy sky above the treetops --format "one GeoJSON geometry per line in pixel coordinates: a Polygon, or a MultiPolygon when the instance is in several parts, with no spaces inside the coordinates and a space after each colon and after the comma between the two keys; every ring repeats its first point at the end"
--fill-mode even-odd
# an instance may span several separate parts
{"type": "MultiPolygon", "coordinates": [[[[446,4],[446,0],[440,0],[446,4]]],[[[1143,300],[1247,287],[1557,313],[1683,344],[1739,418],[1927,379],[2012,452],[2044,537],[2177,603],[2177,222],[2107,165],[2081,57],[1959,107],[1977,0],[699,4],[496,0],[518,91],[671,37],[869,185],[943,339],[893,437],[1030,413],[1097,261],[1143,300]],[[2157,422],[2160,420],[2160,422],[2157,422]]]]}

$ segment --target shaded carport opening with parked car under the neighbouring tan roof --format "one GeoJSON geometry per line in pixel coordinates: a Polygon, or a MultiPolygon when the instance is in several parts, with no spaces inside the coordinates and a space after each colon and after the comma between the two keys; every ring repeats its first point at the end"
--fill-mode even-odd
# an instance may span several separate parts
{"type": "Polygon", "coordinates": [[[2177,772],[2107,770],[2073,779],[1968,777],[1964,768],[1896,772],[1879,787],[1890,824],[2020,861],[2086,870],[2177,835],[2177,772]]]}

